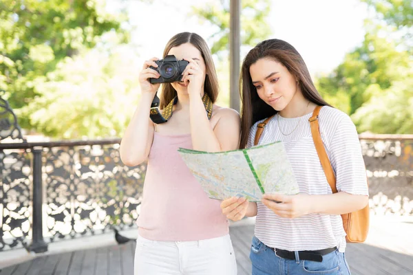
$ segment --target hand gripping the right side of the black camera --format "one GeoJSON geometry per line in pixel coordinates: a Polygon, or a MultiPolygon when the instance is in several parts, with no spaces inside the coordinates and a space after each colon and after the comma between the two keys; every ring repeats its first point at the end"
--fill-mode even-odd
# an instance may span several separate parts
{"type": "Polygon", "coordinates": [[[189,62],[187,67],[182,72],[182,82],[188,85],[189,96],[201,94],[202,86],[204,85],[204,72],[198,63],[192,58],[184,59],[189,62]]]}

